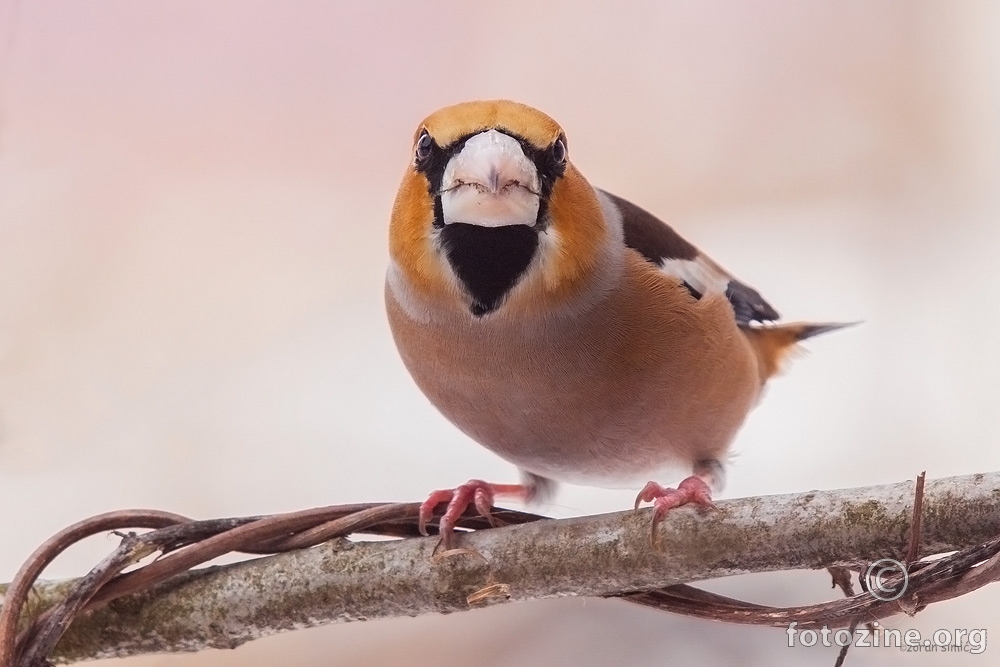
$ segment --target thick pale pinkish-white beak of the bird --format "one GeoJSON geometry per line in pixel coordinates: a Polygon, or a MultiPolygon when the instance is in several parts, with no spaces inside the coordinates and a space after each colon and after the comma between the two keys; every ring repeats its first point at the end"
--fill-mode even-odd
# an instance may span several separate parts
{"type": "Polygon", "coordinates": [[[538,219],[539,193],[538,170],[521,144],[503,132],[488,130],[466,141],[445,167],[444,223],[531,226],[538,219]]]}

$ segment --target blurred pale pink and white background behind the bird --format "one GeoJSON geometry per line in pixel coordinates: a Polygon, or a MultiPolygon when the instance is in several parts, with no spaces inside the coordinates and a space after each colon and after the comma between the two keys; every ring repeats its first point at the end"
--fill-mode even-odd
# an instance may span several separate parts
{"type": "MultiPolygon", "coordinates": [[[[592,183],[671,221],[786,317],[865,320],[773,383],[725,497],[1000,469],[995,3],[0,8],[2,581],[105,510],[210,518],[516,479],[418,392],[382,306],[412,132],[471,98],[548,112],[592,183]]],[[[540,510],[633,497],[564,487],[540,510]]],[[[114,544],[94,539],[47,576],[114,544]]],[[[825,572],[710,587],[836,595],[825,572]]],[[[1000,639],[998,601],[987,588],[888,624],[1000,639]]],[[[897,656],[855,649],[848,664],[955,660],[897,656]]],[[[787,648],[780,629],[561,599],[123,664],[834,658],[787,648]]]]}

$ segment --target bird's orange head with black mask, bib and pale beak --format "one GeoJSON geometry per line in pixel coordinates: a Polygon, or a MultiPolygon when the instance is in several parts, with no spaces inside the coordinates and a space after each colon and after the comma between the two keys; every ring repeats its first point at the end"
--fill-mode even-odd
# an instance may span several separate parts
{"type": "Polygon", "coordinates": [[[466,102],[417,128],[389,229],[390,284],[481,318],[566,303],[606,260],[594,189],[544,113],[466,102]]]}

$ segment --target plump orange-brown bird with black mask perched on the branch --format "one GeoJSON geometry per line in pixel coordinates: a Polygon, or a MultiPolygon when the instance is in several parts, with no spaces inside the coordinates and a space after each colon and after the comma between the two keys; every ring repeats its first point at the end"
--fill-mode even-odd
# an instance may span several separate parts
{"type": "Polygon", "coordinates": [[[451,548],[470,506],[551,497],[559,482],[637,488],[653,530],[714,508],[729,448],[798,343],[847,326],[778,312],[671,226],[592,186],[562,127],[510,100],[435,111],[413,135],[389,221],[385,305],[403,364],[520,484],[431,493],[451,548]]]}

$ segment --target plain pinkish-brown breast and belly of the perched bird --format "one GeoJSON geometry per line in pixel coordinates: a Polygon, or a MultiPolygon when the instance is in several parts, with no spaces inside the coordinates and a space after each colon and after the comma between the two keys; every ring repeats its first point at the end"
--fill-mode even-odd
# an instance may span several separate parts
{"type": "MultiPolygon", "coordinates": [[[[518,467],[615,484],[724,455],[760,390],[753,351],[722,296],[694,299],[629,251],[585,313],[418,322],[391,289],[404,363],[456,426],[518,467]]],[[[440,316],[440,317],[438,317],[440,316]]]]}

